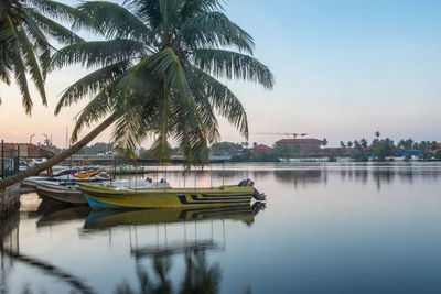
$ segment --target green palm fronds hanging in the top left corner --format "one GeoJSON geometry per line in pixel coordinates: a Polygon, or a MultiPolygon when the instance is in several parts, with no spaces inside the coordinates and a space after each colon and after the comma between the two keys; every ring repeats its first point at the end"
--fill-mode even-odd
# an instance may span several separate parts
{"type": "Polygon", "coordinates": [[[2,0],[0,3],[0,81],[10,85],[11,76],[15,78],[29,115],[33,102],[28,73],[46,105],[45,69],[53,52],[47,37],[62,44],[82,41],[49,17],[73,20],[75,13],[74,8],[51,0],[2,0]]]}

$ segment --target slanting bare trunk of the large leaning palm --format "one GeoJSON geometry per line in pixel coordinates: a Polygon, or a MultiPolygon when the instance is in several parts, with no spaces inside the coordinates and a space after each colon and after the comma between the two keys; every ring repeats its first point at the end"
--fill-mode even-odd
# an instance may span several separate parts
{"type": "Polygon", "coordinates": [[[98,134],[100,134],[104,130],[106,130],[114,121],[116,117],[110,116],[107,118],[105,121],[103,121],[98,127],[96,127],[92,132],[89,132],[85,138],[79,140],[75,145],[72,148],[65,150],[64,152],[53,156],[52,159],[43,162],[42,164],[39,164],[34,167],[28,168],[26,171],[23,171],[21,173],[18,173],[17,175],[13,175],[11,177],[6,178],[4,181],[0,182],[0,189],[6,188],[10,185],[13,185],[28,176],[33,176],[37,175],[39,173],[52,167],[53,165],[64,161],[72,154],[75,154],[78,152],[82,148],[87,145],[92,140],[94,140],[98,134]]]}

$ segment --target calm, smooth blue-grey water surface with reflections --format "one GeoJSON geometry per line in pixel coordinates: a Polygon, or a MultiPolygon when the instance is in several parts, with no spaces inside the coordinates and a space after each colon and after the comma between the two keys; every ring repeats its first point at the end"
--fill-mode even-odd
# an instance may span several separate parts
{"type": "Polygon", "coordinates": [[[173,186],[250,177],[266,207],[97,214],[26,194],[2,224],[2,293],[441,293],[440,164],[175,170],[173,186]]]}

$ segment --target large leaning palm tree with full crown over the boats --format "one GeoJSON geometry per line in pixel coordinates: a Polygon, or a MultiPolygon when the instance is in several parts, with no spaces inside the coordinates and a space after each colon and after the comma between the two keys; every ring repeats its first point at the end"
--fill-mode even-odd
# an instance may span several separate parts
{"type": "Polygon", "coordinates": [[[105,41],[77,42],[60,50],[51,69],[82,63],[95,72],[68,87],[56,107],[93,95],[78,116],[73,140],[84,126],[106,118],[62,154],[3,183],[15,183],[74,154],[115,123],[119,150],[132,150],[148,135],[152,155],[166,159],[169,139],[189,162],[207,157],[218,139],[216,113],[248,139],[238,98],[216,78],[241,78],[272,88],[271,72],[251,56],[252,37],[224,13],[222,0],[131,0],[119,6],[93,1],[78,7],[74,28],[90,29],[105,41]],[[248,53],[248,54],[247,54],[248,53]]]}

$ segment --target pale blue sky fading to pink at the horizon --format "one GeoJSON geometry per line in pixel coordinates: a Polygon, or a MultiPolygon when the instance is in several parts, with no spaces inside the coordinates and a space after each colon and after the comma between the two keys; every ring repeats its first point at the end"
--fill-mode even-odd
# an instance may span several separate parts
{"type": "MultiPolygon", "coordinates": [[[[255,56],[276,76],[272,91],[227,83],[247,109],[251,143],[282,138],[257,132],[305,132],[337,145],[370,140],[376,130],[394,140],[441,141],[441,1],[230,0],[227,14],[255,37],[255,56]]],[[[32,117],[17,88],[0,85],[0,139],[28,142],[35,133],[36,143],[46,133],[65,146],[66,127],[72,130],[86,101],[58,117],[53,110],[63,89],[85,73],[52,73],[49,107],[34,92],[32,117]]],[[[222,133],[244,141],[225,122],[222,133]]]]}

